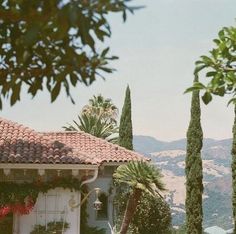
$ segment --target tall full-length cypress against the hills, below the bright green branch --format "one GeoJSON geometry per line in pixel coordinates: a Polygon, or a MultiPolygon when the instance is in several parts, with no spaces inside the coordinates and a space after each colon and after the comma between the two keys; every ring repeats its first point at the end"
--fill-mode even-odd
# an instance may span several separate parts
{"type": "MultiPolygon", "coordinates": [[[[196,77],[194,81],[197,80],[196,77]]],[[[199,91],[193,91],[191,120],[187,131],[187,155],[185,159],[187,234],[202,234],[202,139],[199,91]]]]}

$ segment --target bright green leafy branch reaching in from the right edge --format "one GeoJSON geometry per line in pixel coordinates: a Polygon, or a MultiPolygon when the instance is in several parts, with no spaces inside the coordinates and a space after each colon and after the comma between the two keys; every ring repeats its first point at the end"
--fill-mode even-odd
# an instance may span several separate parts
{"type": "Polygon", "coordinates": [[[212,95],[224,96],[232,94],[230,102],[236,102],[236,27],[224,27],[218,38],[214,40],[215,47],[208,56],[201,56],[196,62],[195,76],[203,72],[208,83],[195,82],[186,92],[204,90],[202,100],[208,104],[212,95]]]}

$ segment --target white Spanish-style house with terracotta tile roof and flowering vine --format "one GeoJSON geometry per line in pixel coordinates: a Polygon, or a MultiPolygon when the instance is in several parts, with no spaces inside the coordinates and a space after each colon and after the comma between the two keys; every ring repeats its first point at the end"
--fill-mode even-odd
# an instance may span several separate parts
{"type": "Polygon", "coordinates": [[[0,118],[0,223],[13,217],[7,229],[0,224],[0,233],[30,234],[40,225],[61,222],[62,233],[86,234],[80,231],[80,220],[86,220],[81,187],[90,194],[88,225],[110,233],[112,174],[131,160],[145,158],[84,132],[40,133],[0,118]],[[94,203],[97,198],[101,210],[94,209],[94,204],[100,206],[94,203]]]}

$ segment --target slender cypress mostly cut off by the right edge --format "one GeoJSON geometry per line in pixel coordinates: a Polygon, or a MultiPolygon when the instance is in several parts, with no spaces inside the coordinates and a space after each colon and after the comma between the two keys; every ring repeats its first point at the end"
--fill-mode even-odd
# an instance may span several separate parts
{"type": "Polygon", "coordinates": [[[234,106],[234,125],[232,143],[232,206],[234,217],[234,233],[236,233],[236,105],[234,106]]]}

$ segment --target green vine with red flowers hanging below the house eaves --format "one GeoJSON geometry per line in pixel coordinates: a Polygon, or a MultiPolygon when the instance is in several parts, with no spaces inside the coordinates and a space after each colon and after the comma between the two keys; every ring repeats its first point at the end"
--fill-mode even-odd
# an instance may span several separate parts
{"type": "Polygon", "coordinates": [[[0,182],[0,218],[8,213],[28,214],[35,205],[40,192],[64,188],[81,191],[81,181],[72,177],[54,177],[51,180],[41,179],[33,182],[0,182]]]}

